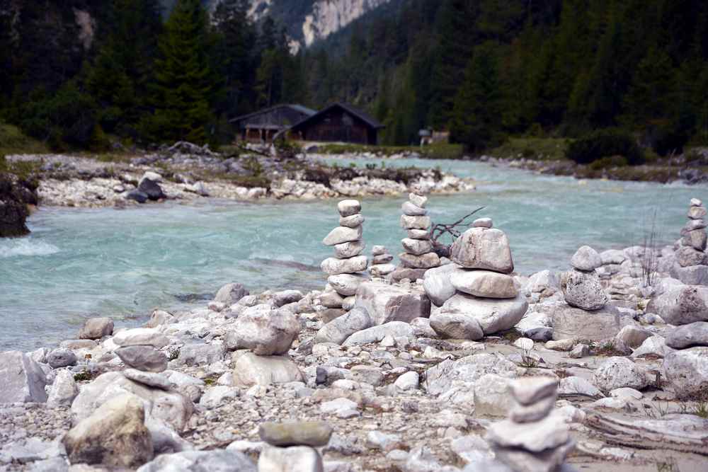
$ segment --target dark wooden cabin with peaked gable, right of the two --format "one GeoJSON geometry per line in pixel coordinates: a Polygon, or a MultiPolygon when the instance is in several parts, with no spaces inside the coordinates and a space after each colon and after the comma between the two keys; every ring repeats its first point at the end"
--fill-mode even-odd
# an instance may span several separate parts
{"type": "Polygon", "coordinates": [[[377,144],[384,125],[346,103],[334,103],[290,128],[291,139],[316,142],[377,144]]]}

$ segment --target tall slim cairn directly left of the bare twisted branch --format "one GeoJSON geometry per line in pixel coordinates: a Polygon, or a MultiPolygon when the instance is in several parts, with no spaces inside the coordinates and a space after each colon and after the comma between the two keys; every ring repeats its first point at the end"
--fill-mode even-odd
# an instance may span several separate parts
{"type": "Polygon", "coordinates": [[[411,282],[422,279],[426,270],[440,265],[440,258],[433,252],[433,244],[430,243],[427,202],[428,197],[410,193],[409,201],[401,206],[401,227],[408,231],[408,237],[401,239],[405,252],[399,254],[401,267],[393,272],[392,279],[395,282],[402,279],[410,279],[411,282]]]}

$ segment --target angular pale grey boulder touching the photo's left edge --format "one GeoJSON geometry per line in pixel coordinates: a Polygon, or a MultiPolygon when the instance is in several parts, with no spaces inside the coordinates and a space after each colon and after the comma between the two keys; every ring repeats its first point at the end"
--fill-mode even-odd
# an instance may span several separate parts
{"type": "Polygon", "coordinates": [[[0,352],[0,379],[0,403],[47,401],[45,373],[24,352],[0,352]]]}

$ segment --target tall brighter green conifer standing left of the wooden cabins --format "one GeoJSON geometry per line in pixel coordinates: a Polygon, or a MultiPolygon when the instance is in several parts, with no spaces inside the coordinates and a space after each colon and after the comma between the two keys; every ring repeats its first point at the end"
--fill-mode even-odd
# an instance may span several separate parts
{"type": "Polygon", "coordinates": [[[207,12],[200,0],[178,0],[159,38],[156,61],[154,114],[144,130],[160,142],[207,141],[212,122],[210,98],[216,80],[209,67],[207,12]]]}

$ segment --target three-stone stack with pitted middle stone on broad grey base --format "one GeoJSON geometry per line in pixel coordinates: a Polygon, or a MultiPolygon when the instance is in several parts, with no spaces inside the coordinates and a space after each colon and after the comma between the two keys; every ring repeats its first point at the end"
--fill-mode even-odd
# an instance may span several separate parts
{"type": "Polygon", "coordinates": [[[608,304],[610,299],[595,272],[601,265],[600,254],[590,246],[582,246],[571,258],[573,268],[561,275],[565,304],[547,307],[554,340],[599,341],[614,338],[619,333],[619,310],[608,304]]]}

